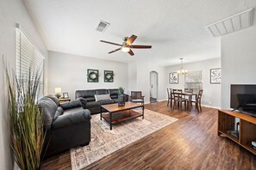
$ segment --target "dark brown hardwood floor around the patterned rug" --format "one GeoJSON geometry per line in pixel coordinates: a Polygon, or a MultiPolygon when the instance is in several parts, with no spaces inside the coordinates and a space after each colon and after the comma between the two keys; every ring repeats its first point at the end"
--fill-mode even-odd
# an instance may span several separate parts
{"type": "MultiPolygon", "coordinates": [[[[146,108],[179,120],[84,169],[256,169],[255,155],[217,136],[215,109],[185,112],[166,101],[146,108]]],[[[69,151],[47,159],[41,169],[71,169],[69,151]]]]}

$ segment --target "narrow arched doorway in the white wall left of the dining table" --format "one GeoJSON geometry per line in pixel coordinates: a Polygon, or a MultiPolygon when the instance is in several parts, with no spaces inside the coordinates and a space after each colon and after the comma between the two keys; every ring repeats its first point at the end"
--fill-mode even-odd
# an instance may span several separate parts
{"type": "Polygon", "coordinates": [[[159,74],[156,71],[150,72],[150,102],[156,102],[158,100],[158,86],[159,86],[159,74]]]}

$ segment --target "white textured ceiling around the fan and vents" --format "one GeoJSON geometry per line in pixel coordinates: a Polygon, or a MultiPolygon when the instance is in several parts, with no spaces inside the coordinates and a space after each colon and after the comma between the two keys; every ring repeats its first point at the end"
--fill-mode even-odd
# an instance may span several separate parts
{"type": "MultiPolygon", "coordinates": [[[[184,64],[221,57],[220,38],[206,26],[245,9],[255,8],[255,0],[23,0],[45,40],[47,49],[91,58],[120,62],[147,60],[161,65],[184,64]],[[97,32],[100,20],[110,26],[97,32]],[[135,34],[134,57],[118,46],[100,39],[122,43],[135,34]]],[[[255,26],[255,14],[253,24],[255,26]]]]}

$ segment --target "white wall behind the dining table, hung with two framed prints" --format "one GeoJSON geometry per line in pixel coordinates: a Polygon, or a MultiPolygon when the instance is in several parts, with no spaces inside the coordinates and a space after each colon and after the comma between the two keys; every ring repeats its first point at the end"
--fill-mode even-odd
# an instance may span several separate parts
{"type": "MultiPolygon", "coordinates": [[[[221,84],[210,84],[209,70],[220,68],[221,58],[215,58],[210,60],[205,60],[196,63],[184,64],[184,69],[188,71],[192,70],[202,70],[202,82],[203,82],[203,97],[202,105],[220,108],[221,107],[221,84]]],[[[165,96],[167,98],[166,88],[181,88],[184,89],[184,75],[178,76],[178,84],[169,83],[169,73],[176,72],[180,70],[180,65],[173,65],[166,67],[166,86],[165,86],[165,96]]]]}

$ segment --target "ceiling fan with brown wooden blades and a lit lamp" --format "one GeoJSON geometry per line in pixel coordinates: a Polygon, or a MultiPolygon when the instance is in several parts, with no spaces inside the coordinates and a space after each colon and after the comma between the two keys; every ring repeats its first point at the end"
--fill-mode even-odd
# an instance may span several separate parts
{"type": "Polygon", "coordinates": [[[108,43],[110,45],[115,45],[115,46],[121,46],[120,48],[117,48],[116,50],[109,52],[109,54],[122,50],[122,52],[128,52],[131,56],[133,56],[134,52],[132,51],[132,48],[143,49],[143,48],[151,48],[152,47],[152,46],[132,45],[135,39],[137,39],[136,35],[132,35],[129,38],[124,37],[122,45],[116,44],[113,42],[109,42],[106,40],[100,40],[100,42],[108,43]]]}

